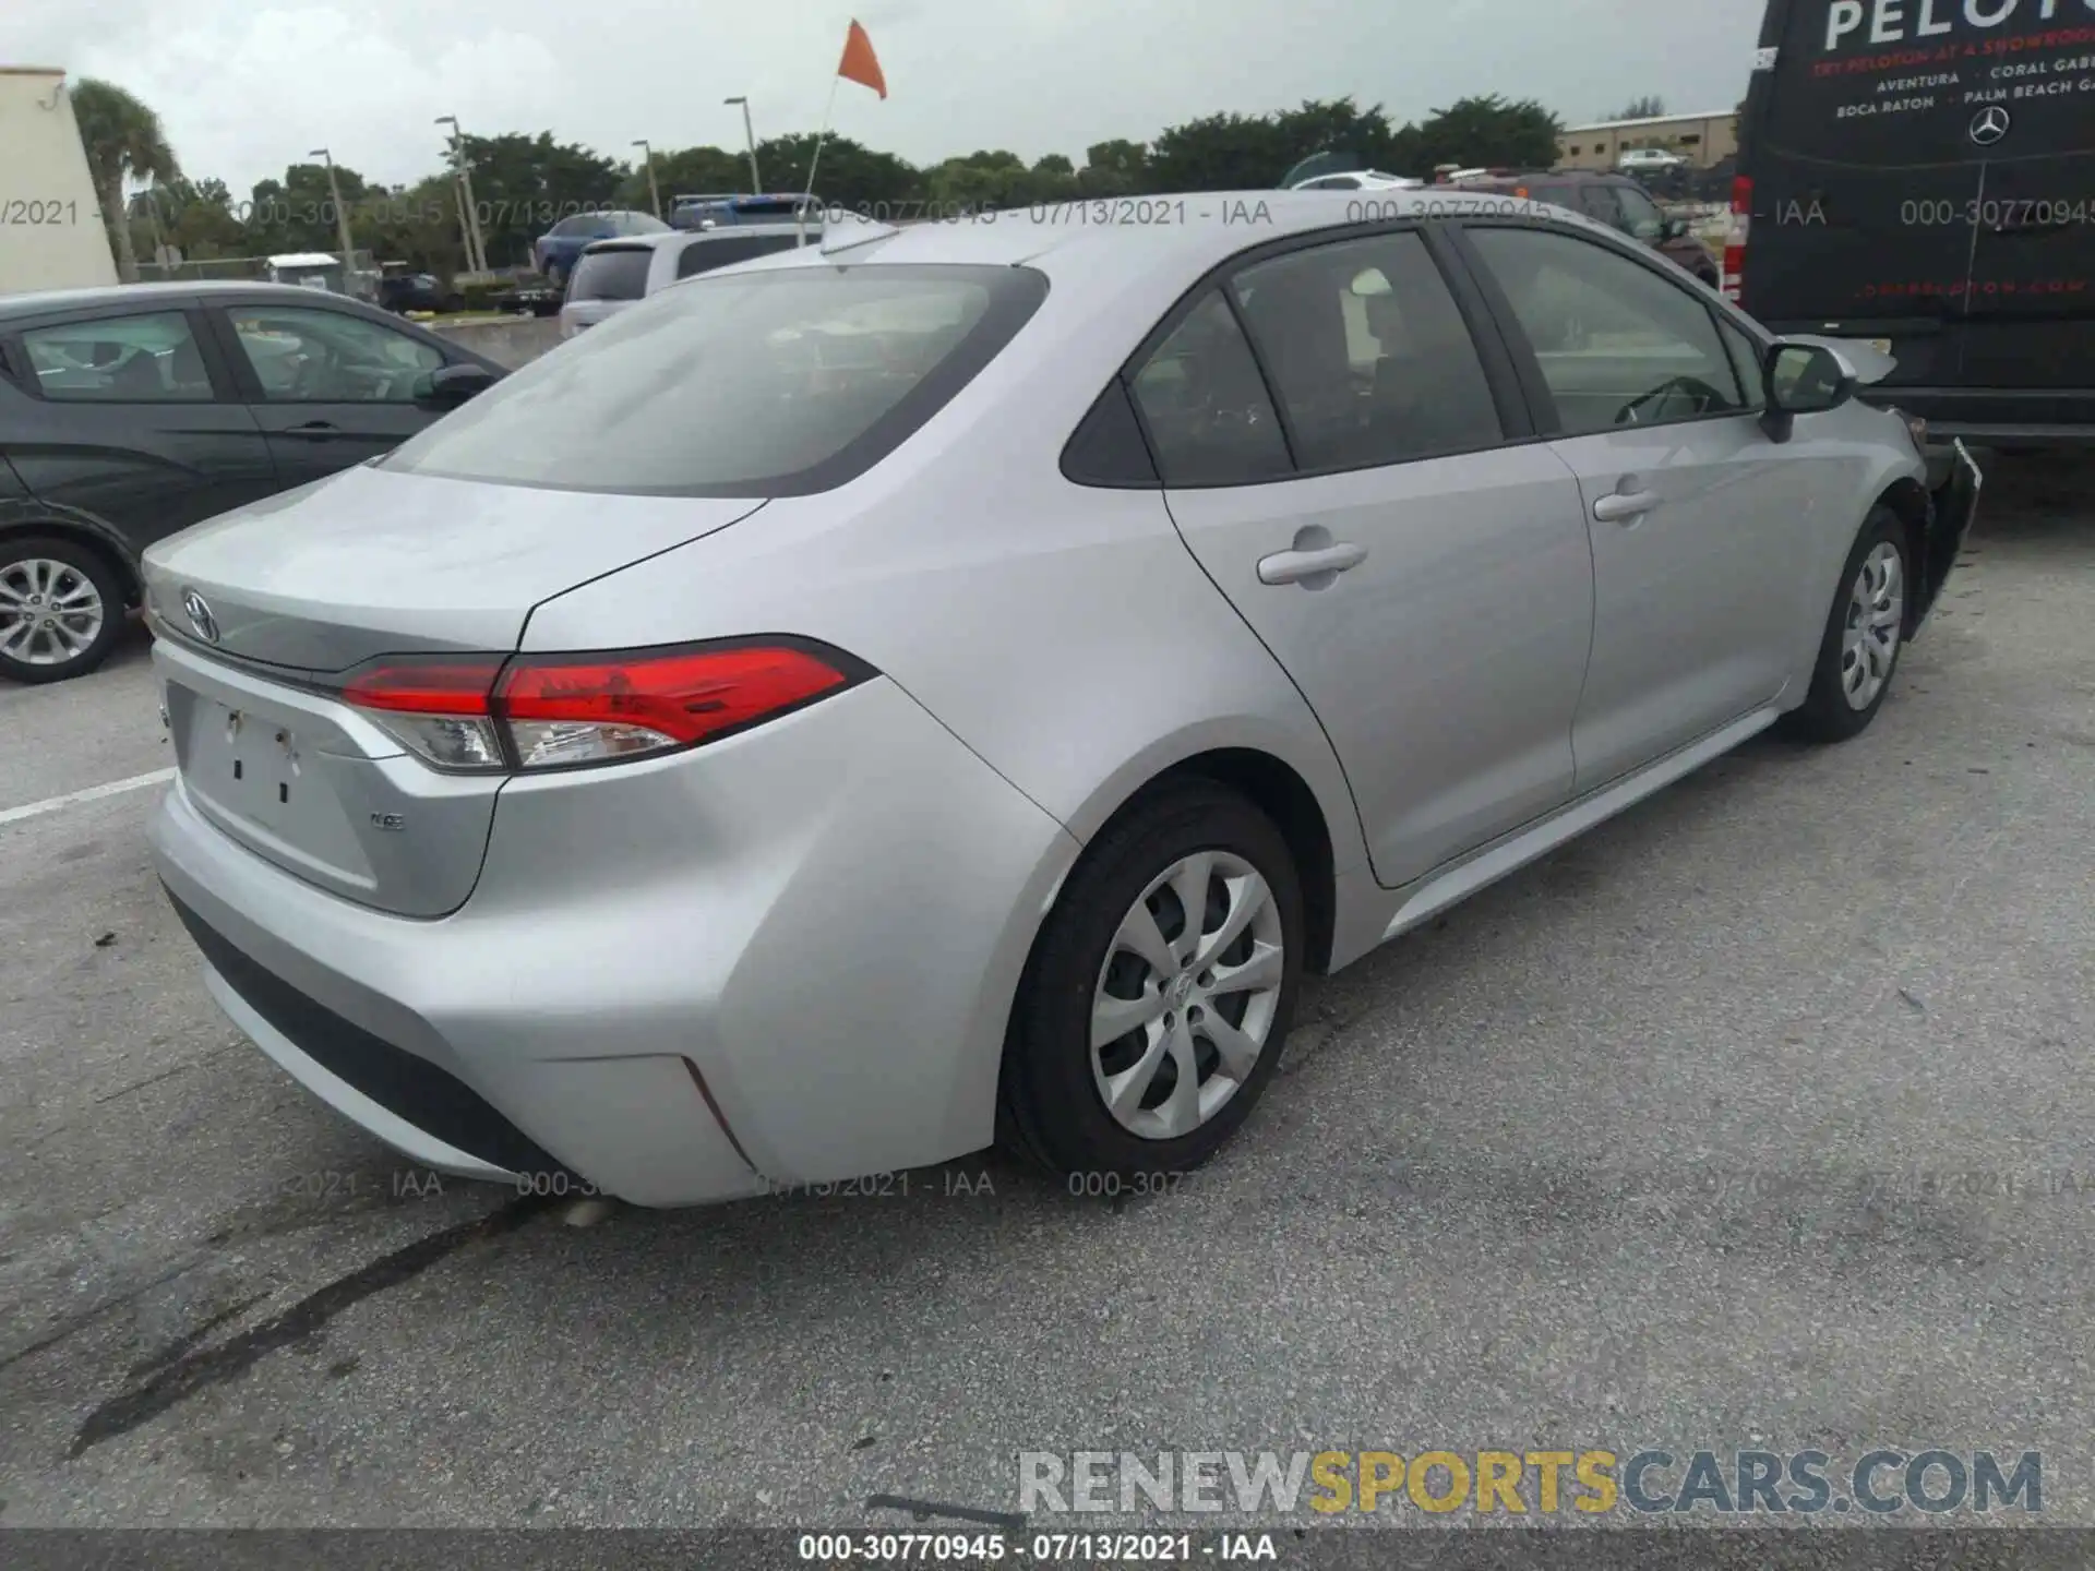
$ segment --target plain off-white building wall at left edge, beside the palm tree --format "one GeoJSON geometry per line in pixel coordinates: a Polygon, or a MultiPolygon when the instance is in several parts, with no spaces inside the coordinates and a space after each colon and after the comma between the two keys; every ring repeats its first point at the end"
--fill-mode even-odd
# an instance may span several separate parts
{"type": "Polygon", "coordinates": [[[65,71],[0,65],[0,295],[117,281],[65,71]]]}

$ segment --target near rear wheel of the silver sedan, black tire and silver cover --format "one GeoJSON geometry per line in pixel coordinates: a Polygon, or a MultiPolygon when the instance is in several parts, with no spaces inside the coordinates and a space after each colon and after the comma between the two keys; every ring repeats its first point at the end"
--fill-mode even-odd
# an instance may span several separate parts
{"type": "Polygon", "coordinates": [[[1033,945],[1004,1052],[1004,1144],[1073,1181],[1205,1163],[1280,1062],[1303,930],[1295,859],[1251,802],[1209,781],[1138,802],[1085,850],[1033,945]]]}

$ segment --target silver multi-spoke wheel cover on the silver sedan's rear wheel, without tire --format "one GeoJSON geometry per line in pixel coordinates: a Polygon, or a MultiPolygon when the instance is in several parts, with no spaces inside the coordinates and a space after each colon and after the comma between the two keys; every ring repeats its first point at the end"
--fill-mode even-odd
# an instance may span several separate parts
{"type": "Polygon", "coordinates": [[[1091,995],[1091,1079],[1142,1139],[1192,1133],[1267,1047],[1286,976],[1280,907],[1242,857],[1200,850],[1142,892],[1091,995]]]}

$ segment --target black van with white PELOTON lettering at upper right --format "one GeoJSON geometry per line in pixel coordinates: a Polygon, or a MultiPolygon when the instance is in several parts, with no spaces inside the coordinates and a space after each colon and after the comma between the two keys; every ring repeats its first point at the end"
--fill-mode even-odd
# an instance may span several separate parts
{"type": "Polygon", "coordinates": [[[2095,385],[2095,8],[1795,0],[1762,44],[1741,304],[1888,339],[1946,423],[2095,419],[2053,394],[2095,385]]]}

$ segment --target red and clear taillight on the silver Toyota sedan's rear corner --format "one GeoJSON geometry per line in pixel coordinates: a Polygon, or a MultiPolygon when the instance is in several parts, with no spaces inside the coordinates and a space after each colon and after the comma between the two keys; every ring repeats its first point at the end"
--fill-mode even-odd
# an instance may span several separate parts
{"type": "Polygon", "coordinates": [[[344,683],[341,698],[440,769],[559,769],[696,748],[863,674],[836,649],[767,639],[388,660],[344,683]]]}

